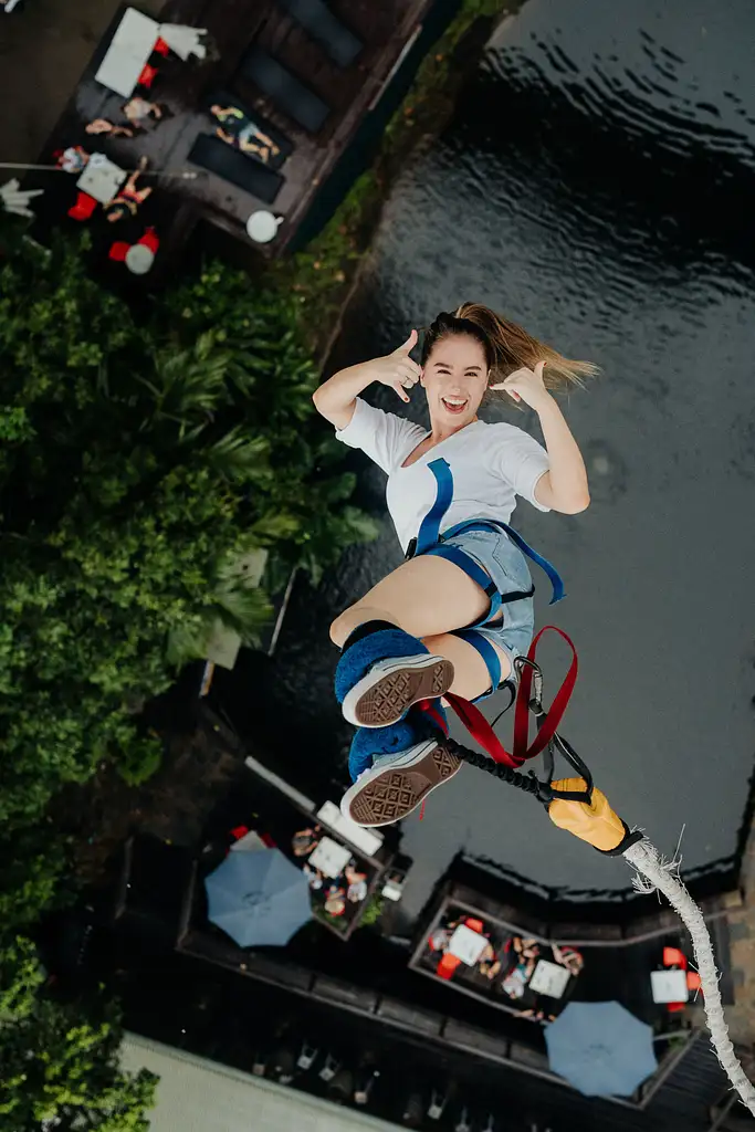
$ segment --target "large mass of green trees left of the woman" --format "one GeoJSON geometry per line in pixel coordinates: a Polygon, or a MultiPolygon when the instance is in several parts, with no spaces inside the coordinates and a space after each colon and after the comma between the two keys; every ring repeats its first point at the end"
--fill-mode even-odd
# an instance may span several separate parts
{"type": "MultiPolygon", "coordinates": [[[[315,422],[292,299],[211,266],[139,320],[70,245],[7,251],[0,822],[12,832],[105,760],[131,782],[152,773],[161,746],[134,705],[206,655],[218,618],[255,644],[293,566],[318,581],[372,528],[348,501],[342,446],[315,422]],[[251,589],[238,564],[260,548],[269,567],[251,589]]],[[[37,872],[37,897],[49,881],[37,872]]]]}

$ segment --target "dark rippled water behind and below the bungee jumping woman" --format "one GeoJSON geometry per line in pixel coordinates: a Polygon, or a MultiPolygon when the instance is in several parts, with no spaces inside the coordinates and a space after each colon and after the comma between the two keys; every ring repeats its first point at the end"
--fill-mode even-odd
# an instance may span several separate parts
{"type": "MultiPolygon", "coordinates": [[[[565,734],[628,822],[667,850],[686,825],[689,869],[735,854],[753,764],[754,45],[744,0],[530,0],[395,189],[338,358],[473,299],[601,365],[567,406],[592,507],[515,522],[567,581],[538,610],[580,648],[565,734]]],[[[362,492],[384,514],[379,472],[362,492]]],[[[334,767],[327,624],[397,561],[386,521],[281,641],[275,695],[334,767]]],[[[546,653],[551,687],[564,660],[546,653]]],[[[405,823],[410,906],[461,847],[554,886],[627,883],[471,769],[405,823]]]]}

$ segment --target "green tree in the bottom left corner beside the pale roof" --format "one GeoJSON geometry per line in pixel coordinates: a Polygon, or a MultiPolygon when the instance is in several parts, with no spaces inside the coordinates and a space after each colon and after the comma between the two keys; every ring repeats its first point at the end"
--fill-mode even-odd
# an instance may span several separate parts
{"type": "Polygon", "coordinates": [[[0,1129],[147,1132],[157,1078],[121,1071],[118,1011],[54,1001],[34,945],[0,951],[0,1129]]]}

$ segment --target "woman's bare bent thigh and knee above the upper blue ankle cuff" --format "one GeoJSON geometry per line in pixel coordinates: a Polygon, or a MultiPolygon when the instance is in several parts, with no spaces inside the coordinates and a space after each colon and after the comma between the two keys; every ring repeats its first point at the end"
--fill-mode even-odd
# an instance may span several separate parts
{"type": "Polygon", "coordinates": [[[344,610],[331,627],[342,645],[367,620],[387,620],[413,636],[438,636],[480,620],[490,599],[463,569],[436,555],[402,563],[395,571],[344,610]]]}

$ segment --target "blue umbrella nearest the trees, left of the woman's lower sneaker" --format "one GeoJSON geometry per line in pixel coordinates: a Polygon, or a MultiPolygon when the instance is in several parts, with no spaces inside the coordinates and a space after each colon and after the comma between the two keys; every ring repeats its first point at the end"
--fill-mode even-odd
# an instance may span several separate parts
{"type": "Polygon", "coordinates": [[[241,947],[282,947],[312,915],[307,877],[280,849],[230,852],[205,889],[209,919],[241,947]]]}

